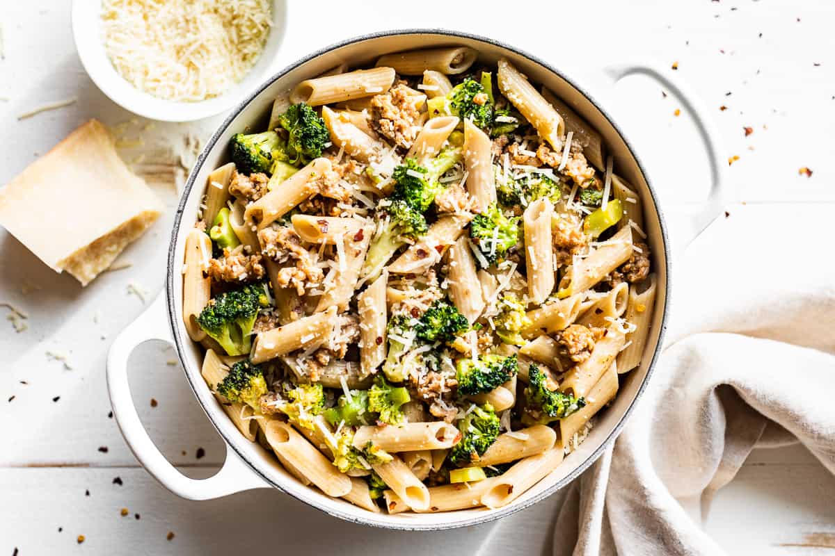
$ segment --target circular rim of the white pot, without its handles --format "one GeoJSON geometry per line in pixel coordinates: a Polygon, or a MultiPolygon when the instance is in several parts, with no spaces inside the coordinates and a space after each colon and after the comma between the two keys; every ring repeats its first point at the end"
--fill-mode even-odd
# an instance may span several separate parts
{"type": "MultiPolygon", "coordinates": [[[[635,153],[635,149],[632,147],[629,139],[626,137],[625,133],[622,132],[620,127],[615,120],[610,116],[601,105],[600,103],[595,100],[586,89],[580,87],[572,78],[569,78],[565,73],[562,71],[554,68],[550,63],[545,62],[541,58],[534,56],[522,49],[509,46],[506,43],[502,43],[501,41],[494,40],[492,38],[482,37],[480,35],[476,35],[473,33],[464,33],[460,31],[453,31],[451,29],[444,29],[444,28],[405,28],[405,29],[393,29],[390,31],[378,31],[376,33],[367,33],[363,35],[359,35],[354,38],[347,38],[340,42],[333,43],[328,45],[324,48],[320,48],[316,50],[314,53],[310,53],[305,57],[299,58],[296,62],[293,62],[282,68],[280,71],[274,73],[270,78],[268,78],[264,83],[261,84],[259,88],[256,88],[251,94],[247,95],[246,98],[241,101],[240,103],[235,106],[235,108],[230,112],[229,116],[227,116],[223,123],[215,130],[215,133],[212,134],[209,141],[205,144],[202,152],[198,156],[195,161],[193,168],[191,168],[191,172],[189,175],[188,180],[185,183],[185,187],[183,188],[183,192],[180,195],[180,203],[177,207],[177,212],[175,213],[175,220],[171,229],[171,240],[169,245],[169,253],[168,253],[168,263],[167,263],[167,270],[166,270],[166,278],[165,278],[165,298],[166,304],[168,308],[168,319],[169,325],[171,328],[171,336],[174,338],[174,343],[176,346],[177,357],[180,359],[180,363],[183,366],[185,377],[189,382],[190,388],[195,393],[195,397],[197,398],[198,402],[200,403],[201,408],[203,408],[206,416],[209,418],[212,426],[215,427],[215,430],[218,434],[220,434],[220,438],[223,438],[225,444],[235,451],[235,454],[246,463],[246,465],[251,469],[253,473],[256,473],[262,480],[266,483],[270,484],[273,488],[277,488],[281,490],[283,493],[287,493],[292,498],[296,498],[301,503],[305,503],[312,508],[316,508],[324,513],[328,513],[329,515],[337,518],[344,519],[346,521],[352,523],[360,523],[363,525],[368,525],[377,528],[387,528],[387,529],[395,529],[395,530],[402,530],[402,531],[438,531],[438,530],[447,530],[453,528],[462,528],[462,527],[470,527],[473,525],[480,525],[483,523],[488,523],[498,518],[507,517],[513,513],[519,512],[525,508],[529,508],[530,506],[534,505],[535,503],[539,503],[545,498],[548,498],[556,491],[561,488],[564,488],[566,485],[574,481],[575,478],[578,478],[581,473],[583,473],[587,468],[595,463],[598,458],[604,453],[604,451],[610,448],[610,445],[614,443],[615,438],[618,437],[620,432],[623,430],[626,421],[630,418],[631,413],[635,409],[635,403],[640,399],[643,395],[647,383],[650,382],[650,377],[652,373],[655,371],[655,362],[660,354],[661,348],[664,345],[664,337],[667,328],[667,320],[669,318],[670,313],[670,304],[671,304],[671,280],[670,280],[670,272],[671,272],[671,252],[670,252],[670,236],[669,232],[666,227],[665,218],[663,212],[660,207],[660,203],[658,200],[658,196],[655,193],[655,189],[652,187],[652,183],[650,181],[650,175],[646,173],[644,165],[640,162],[640,158],[638,157],[637,153],[635,153]],[[661,314],[660,326],[659,326],[659,335],[658,335],[658,342],[655,346],[655,351],[652,353],[652,357],[650,358],[650,363],[647,367],[646,376],[644,377],[643,381],[640,383],[638,387],[638,391],[635,393],[635,397],[632,398],[630,401],[629,407],[626,408],[625,413],[620,418],[618,423],[615,425],[609,435],[605,438],[603,443],[600,444],[600,447],[597,448],[593,453],[591,453],[587,458],[584,459],[582,463],[574,468],[574,470],[562,478],[559,482],[555,483],[552,487],[545,489],[542,493],[537,494],[536,496],[530,498],[529,500],[525,500],[522,503],[510,503],[508,506],[504,508],[498,509],[498,511],[493,511],[490,513],[485,513],[484,515],[474,517],[472,519],[468,519],[462,522],[456,523],[433,523],[432,525],[417,525],[415,523],[408,523],[404,521],[403,523],[380,523],[377,521],[369,520],[366,518],[359,517],[357,515],[352,515],[350,513],[345,513],[336,509],[331,508],[321,508],[317,506],[315,503],[302,499],[296,496],[293,493],[287,492],[284,488],[281,488],[281,485],[277,484],[271,478],[268,478],[265,473],[262,473],[261,470],[255,463],[252,463],[248,458],[246,458],[245,454],[242,453],[240,449],[237,448],[235,445],[238,439],[231,440],[230,438],[226,438],[225,434],[221,432],[221,428],[218,423],[215,422],[215,418],[212,417],[211,413],[204,407],[203,403],[200,402],[200,396],[197,393],[197,388],[203,388],[204,383],[200,381],[200,386],[196,385],[195,382],[192,380],[190,373],[188,373],[185,369],[186,362],[185,358],[183,357],[183,353],[185,351],[184,348],[184,338],[181,338],[180,333],[177,328],[177,308],[175,307],[175,296],[174,296],[174,277],[180,276],[179,270],[175,272],[175,268],[179,269],[181,265],[175,263],[175,250],[177,244],[177,238],[180,235],[180,226],[182,224],[183,213],[185,211],[185,204],[191,196],[192,188],[195,185],[195,178],[197,174],[200,173],[200,169],[205,162],[205,158],[208,154],[214,150],[220,136],[225,133],[226,129],[229,128],[230,123],[238,117],[238,115],[247,108],[250,103],[257,98],[261,93],[263,93],[266,88],[271,87],[273,83],[276,83],[277,80],[281,79],[286,75],[286,73],[291,72],[293,69],[298,68],[304,63],[310,62],[314,58],[318,58],[326,53],[331,52],[332,50],[336,50],[337,48],[346,47],[355,43],[362,43],[368,40],[373,40],[377,38],[386,38],[398,35],[443,35],[449,38],[467,38],[469,40],[478,41],[481,43],[488,43],[498,48],[503,48],[509,52],[517,54],[523,58],[527,58],[530,62],[539,64],[539,66],[547,69],[549,72],[554,73],[555,75],[562,78],[566,83],[568,83],[574,90],[578,93],[582,94],[584,98],[586,98],[594,107],[600,111],[600,114],[606,119],[606,121],[615,129],[615,132],[618,133],[620,138],[624,141],[626,148],[629,150],[632,157],[635,159],[635,163],[640,170],[641,175],[645,179],[647,188],[650,192],[650,198],[652,199],[652,203],[655,206],[655,211],[658,214],[658,221],[660,225],[660,235],[661,235],[661,243],[663,244],[664,248],[664,267],[665,267],[665,303],[664,303],[664,310],[661,314]]],[[[190,342],[190,338],[187,340],[190,342]]]]}

